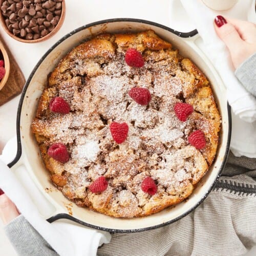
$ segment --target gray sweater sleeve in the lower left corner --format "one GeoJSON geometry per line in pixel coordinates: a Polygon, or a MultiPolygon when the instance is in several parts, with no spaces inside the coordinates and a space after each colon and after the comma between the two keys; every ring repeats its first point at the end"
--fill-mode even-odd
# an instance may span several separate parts
{"type": "Polygon", "coordinates": [[[5,232],[18,255],[58,255],[22,215],[5,226],[5,232]]]}

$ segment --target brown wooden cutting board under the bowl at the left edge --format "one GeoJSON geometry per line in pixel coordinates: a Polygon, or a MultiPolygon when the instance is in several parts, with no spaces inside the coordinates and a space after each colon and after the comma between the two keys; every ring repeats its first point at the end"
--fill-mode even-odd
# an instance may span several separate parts
{"type": "Polygon", "coordinates": [[[25,77],[1,35],[0,40],[2,41],[2,44],[4,45],[10,60],[9,78],[3,89],[0,91],[1,106],[22,92],[22,89],[25,84],[25,77]]]}

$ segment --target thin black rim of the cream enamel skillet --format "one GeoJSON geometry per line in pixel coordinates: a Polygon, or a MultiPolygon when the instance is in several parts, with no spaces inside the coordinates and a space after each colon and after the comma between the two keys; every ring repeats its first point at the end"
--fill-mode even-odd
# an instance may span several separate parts
{"type": "MultiPolygon", "coordinates": [[[[193,30],[193,31],[190,31],[190,32],[179,32],[179,31],[176,31],[174,29],[171,29],[169,27],[166,27],[164,25],[161,25],[161,24],[158,24],[158,23],[155,23],[155,22],[150,22],[148,20],[143,20],[143,19],[134,19],[134,18],[113,18],[113,19],[105,19],[105,20],[100,20],[98,22],[94,22],[94,23],[90,23],[88,25],[84,25],[80,28],[77,28],[75,30],[73,30],[72,32],[66,34],[65,36],[63,36],[61,39],[59,39],[41,58],[40,60],[37,62],[35,68],[32,70],[28,80],[26,81],[26,84],[23,88],[23,91],[22,91],[22,95],[20,96],[20,100],[19,100],[19,104],[18,104],[18,109],[17,109],[17,120],[16,120],[16,132],[17,132],[17,154],[14,158],[14,160],[12,162],[10,162],[8,164],[8,166],[11,168],[15,163],[18,162],[19,158],[22,156],[22,142],[20,140],[20,130],[19,130],[19,126],[20,126],[20,117],[21,117],[21,111],[22,111],[22,105],[23,105],[23,101],[24,101],[24,97],[25,97],[25,94],[27,92],[27,89],[28,89],[28,86],[29,86],[29,83],[32,79],[32,77],[34,76],[34,73],[35,71],[37,70],[37,68],[40,66],[41,62],[44,61],[44,59],[46,58],[46,56],[48,54],[51,53],[51,51],[56,47],[58,46],[62,41],[64,41],[65,39],[67,39],[68,37],[76,34],[77,32],[81,31],[81,30],[84,30],[84,29],[88,29],[90,27],[93,27],[93,26],[96,26],[96,25],[100,25],[100,24],[104,24],[104,23],[115,23],[115,22],[134,22],[134,23],[142,23],[142,24],[148,24],[148,25],[152,25],[152,26],[155,26],[155,27],[159,27],[159,28],[162,28],[164,30],[167,30],[179,37],[182,37],[182,38],[187,38],[187,37],[192,37],[194,35],[196,35],[198,33],[197,30],[193,30]]],[[[109,231],[111,233],[132,233],[132,232],[141,232],[141,231],[146,231],[146,230],[151,230],[151,229],[155,229],[155,228],[159,228],[159,227],[162,227],[162,226],[165,226],[165,225],[168,225],[168,224],[171,224],[171,223],[174,223],[178,220],[180,220],[181,218],[185,217],[186,215],[188,215],[191,211],[193,211],[194,209],[196,209],[204,200],[205,198],[209,195],[210,191],[214,188],[215,184],[217,183],[220,175],[221,175],[221,172],[226,164],[226,161],[227,161],[227,156],[228,156],[228,152],[229,152],[229,145],[230,145],[230,137],[231,137],[231,113],[230,113],[230,106],[229,104],[227,103],[227,112],[228,112],[228,124],[229,124],[229,129],[228,129],[228,138],[227,138],[227,146],[226,146],[226,150],[225,150],[225,156],[224,156],[224,159],[223,159],[223,162],[221,164],[221,167],[219,169],[219,173],[218,173],[218,176],[216,178],[216,180],[211,184],[210,188],[208,189],[208,191],[206,192],[206,194],[202,197],[202,199],[194,206],[192,207],[191,209],[189,209],[188,211],[184,212],[184,214],[182,214],[181,216],[173,219],[173,220],[170,220],[170,221],[167,221],[167,222],[164,222],[164,223],[161,223],[159,225],[155,225],[155,226],[150,226],[150,227],[145,227],[145,228],[137,228],[137,229],[112,229],[112,228],[105,228],[105,227],[99,227],[99,226],[95,226],[95,225],[92,225],[92,224],[89,224],[89,223],[86,223],[86,222],[83,222],[79,219],[76,219],[68,214],[57,214],[49,219],[47,219],[48,222],[52,223],[56,220],[59,220],[59,219],[68,219],[68,220],[71,220],[71,221],[74,221],[76,223],[79,223],[81,225],[84,225],[84,226],[87,226],[87,227],[90,227],[90,228],[94,228],[94,229],[98,229],[98,230],[103,230],[103,231],[109,231]]]]}

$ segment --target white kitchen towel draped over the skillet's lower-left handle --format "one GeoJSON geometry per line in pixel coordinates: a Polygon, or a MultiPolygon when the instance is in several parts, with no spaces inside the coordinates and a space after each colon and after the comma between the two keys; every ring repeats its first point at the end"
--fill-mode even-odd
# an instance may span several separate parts
{"type": "MultiPolygon", "coordinates": [[[[16,154],[16,138],[10,140],[0,156],[0,187],[14,202],[20,213],[41,234],[60,256],[91,256],[96,255],[98,246],[109,243],[111,235],[108,232],[86,228],[77,224],[65,223],[61,220],[50,224],[38,211],[33,203],[28,187],[26,189],[6,165],[16,154]],[[65,246],[63,246],[65,245],[65,246]]],[[[35,191],[38,193],[38,191],[35,191]]],[[[37,197],[37,200],[40,200],[37,197]]],[[[40,202],[37,202],[40,203],[40,202]]]]}

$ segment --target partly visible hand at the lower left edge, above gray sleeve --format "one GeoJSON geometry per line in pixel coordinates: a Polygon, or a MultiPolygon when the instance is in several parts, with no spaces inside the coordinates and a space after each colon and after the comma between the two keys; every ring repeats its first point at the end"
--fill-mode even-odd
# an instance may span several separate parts
{"type": "Polygon", "coordinates": [[[5,195],[4,191],[0,188],[0,218],[4,225],[19,216],[19,212],[14,203],[5,195]]]}

